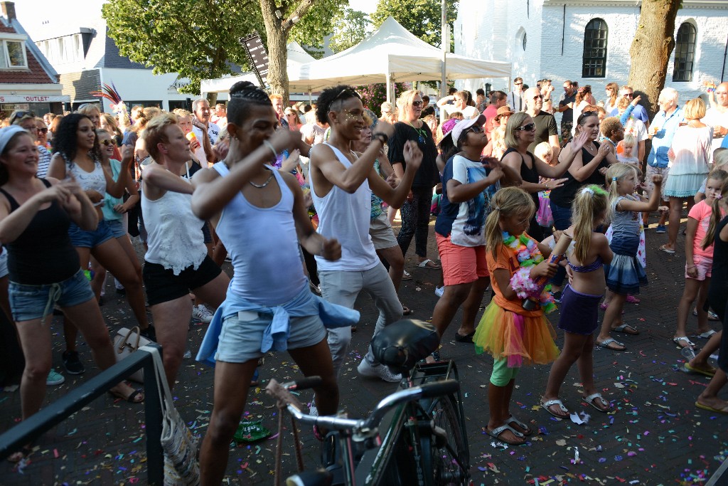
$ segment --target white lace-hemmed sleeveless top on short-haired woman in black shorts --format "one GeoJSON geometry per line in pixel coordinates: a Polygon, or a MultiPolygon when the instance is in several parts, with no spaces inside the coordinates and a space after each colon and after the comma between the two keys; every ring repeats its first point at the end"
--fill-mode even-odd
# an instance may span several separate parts
{"type": "Polygon", "coordinates": [[[175,275],[187,267],[197,270],[207,256],[207,248],[202,219],[192,213],[192,195],[167,191],[153,201],[140,193],[149,245],[144,260],[160,264],[175,275]]]}

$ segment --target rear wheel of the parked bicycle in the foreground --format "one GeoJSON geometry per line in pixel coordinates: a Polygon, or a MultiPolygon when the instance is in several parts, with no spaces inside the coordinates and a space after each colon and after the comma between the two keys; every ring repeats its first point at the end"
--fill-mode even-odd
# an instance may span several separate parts
{"type": "Polygon", "coordinates": [[[431,408],[435,426],[445,431],[446,443],[431,442],[432,474],[435,485],[467,485],[470,479],[470,451],[462,436],[453,396],[442,396],[431,408]]]}

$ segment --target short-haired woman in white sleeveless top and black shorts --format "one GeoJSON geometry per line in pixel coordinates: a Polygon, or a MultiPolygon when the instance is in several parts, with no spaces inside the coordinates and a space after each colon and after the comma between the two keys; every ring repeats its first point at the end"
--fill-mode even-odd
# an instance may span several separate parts
{"type": "Polygon", "coordinates": [[[207,255],[202,221],[192,213],[192,184],[180,176],[190,159],[189,141],[177,117],[157,115],[146,125],[142,138],[155,161],[142,173],[141,204],[148,235],[143,276],[172,388],[187,348],[192,317],[189,291],[218,307],[230,279],[207,255]]]}

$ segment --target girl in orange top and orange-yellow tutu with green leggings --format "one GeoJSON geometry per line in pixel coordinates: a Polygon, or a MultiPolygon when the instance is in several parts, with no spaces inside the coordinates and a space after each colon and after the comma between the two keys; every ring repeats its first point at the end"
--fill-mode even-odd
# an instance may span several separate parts
{"type": "Polygon", "coordinates": [[[524,288],[556,273],[556,264],[544,260],[550,248],[526,234],[535,211],[531,196],[516,187],[500,189],[491,200],[486,259],[495,297],[473,337],[475,353],[486,351],[494,358],[488,386],[488,435],[511,445],[523,444],[524,436],[532,433],[508,411],[518,369],[524,363],[547,364],[558,356],[556,334],[544,316],[544,307],[553,307],[553,302],[542,298],[542,305],[534,310],[522,306],[524,288]]]}

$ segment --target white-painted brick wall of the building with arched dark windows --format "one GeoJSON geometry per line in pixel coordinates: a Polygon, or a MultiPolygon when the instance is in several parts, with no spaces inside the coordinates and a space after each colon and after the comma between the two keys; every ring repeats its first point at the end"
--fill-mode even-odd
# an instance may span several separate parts
{"type": "MultiPolygon", "coordinates": [[[[553,79],[555,99],[563,93],[566,79],[579,85],[591,85],[596,99],[604,100],[604,87],[609,82],[624,85],[630,69],[630,45],[637,28],[639,9],[633,6],[595,5],[566,6],[566,28],[563,28],[563,4],[544,0],[460,0],[455,22],[455,52],[475,58],[503,60],[513,63],[513,78],[523,77],[529,86],[537,79],[553,79]],[[529,4],[530,12],[526,13],[529,4]],[[582,79],[584,28],[596,17],[609,26],[605,78],[582,79]],[[518,44],[518,31],[526,31],[528,42],[524,52],[518,44]],[[563,36],[563,55],[562,49],[563,36]]],[[[607,2],[609,3],[609,2],[607,2]]],[[[704,81],[721,79],[724,50],[728,39],[728,1],[700,7],[700,2],[685,1],[678,11],[675,34],[681,23],[697,27],[697,46],[692,82],[672,82],[674,53],[670,56],[666,86],[674,87],[682,101],[705,93],[704,81]]],[[[623,4],[622,4],[623,5],[623,4]]],[[[728,79],[728,71],[724,75],[728,79]]],[[[491,82],[493,89],[508,91],[502,79],[470,79],[456,85],[475,92],[491,82]]]]}

